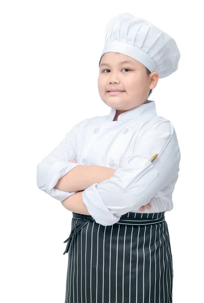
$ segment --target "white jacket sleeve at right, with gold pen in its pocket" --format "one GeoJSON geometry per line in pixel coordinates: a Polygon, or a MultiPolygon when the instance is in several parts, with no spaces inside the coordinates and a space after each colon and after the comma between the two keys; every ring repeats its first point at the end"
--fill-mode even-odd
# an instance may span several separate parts
{"type": "Polygon", "coordinates": [[[108,180],[94,183],[82,199],[96,223],[113,225],[132,209],[149,203],[178,174],[180,149],[169,120],[157,121],[144,131],[131,161],[108,180]],[[145,163],[155,154],[154,161],[145,163]]]}

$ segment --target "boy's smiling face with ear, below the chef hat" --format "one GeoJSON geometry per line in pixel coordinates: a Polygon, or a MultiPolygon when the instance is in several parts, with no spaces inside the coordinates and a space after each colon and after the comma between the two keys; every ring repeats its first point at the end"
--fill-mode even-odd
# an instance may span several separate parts
{"type": "Polygon", "coordinates": [[[118,114],[146,103],[150,89],[156,87],[159,74],[147,75],[146,68],[137,60],[113,52],[105,53],[100,61],[98,92],[101,99],[118,114]],[[130,63],[120,64],[128,60],[130,63]],[[106,63],[107,65],[101,66],[106,63]],[[110,95],[110,89],[125,90],[118,95],[110,95]]]}

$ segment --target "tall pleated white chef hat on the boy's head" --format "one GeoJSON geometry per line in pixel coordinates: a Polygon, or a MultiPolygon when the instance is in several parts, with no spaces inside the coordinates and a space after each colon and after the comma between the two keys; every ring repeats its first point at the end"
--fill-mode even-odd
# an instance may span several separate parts
{"type": "Polygon", "coordinates": [[[160,78],[175,72],[180,59],[172,37],[149,21],[129,13],[119,14],[108,23],[101,57],[107,52],[132,57],[151,73],[157,72],[160,78]]]}

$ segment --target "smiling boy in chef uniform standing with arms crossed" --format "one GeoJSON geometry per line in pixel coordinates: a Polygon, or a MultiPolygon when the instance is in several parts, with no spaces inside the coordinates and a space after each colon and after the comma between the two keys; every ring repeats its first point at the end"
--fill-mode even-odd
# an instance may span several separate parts
{"type": "Polygon", "coordinates": [[[148,96],[179,59],[175,40],[149,21],[112,18],[98,76],[109,115],[74,125],[37,165],[37,186],[73,213],[65,302],[172,302],[165,212],[181,155],[148,96]]]}

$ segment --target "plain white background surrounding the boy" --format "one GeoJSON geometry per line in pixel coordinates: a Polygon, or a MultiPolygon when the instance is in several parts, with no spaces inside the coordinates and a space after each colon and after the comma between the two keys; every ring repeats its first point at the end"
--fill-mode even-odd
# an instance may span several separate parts
{"type": "Polygon", "coordinates": [[[201,2],[5,0],[0,5],[3,303],[64,303],[63,242],[72,213],[38,189],[36,166],[73,125],[110,113],[98,94],[98,63],[108,22],[126,12],[172,36],[181,53],[178,70],[160,79],[149,99],[172,122],[181,150],[174,209],[166,212],[173,302],[203,300],[201,2]]]}

